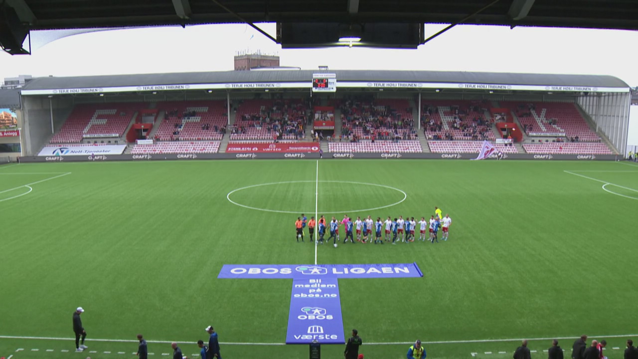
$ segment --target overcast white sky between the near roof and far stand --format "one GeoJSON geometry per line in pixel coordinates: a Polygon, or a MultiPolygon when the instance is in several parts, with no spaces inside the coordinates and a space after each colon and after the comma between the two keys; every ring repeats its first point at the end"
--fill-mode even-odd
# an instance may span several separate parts
{"type": "MultiPolygon", "coordinates": [[[[426,37],[444,26],[426,25],[426,37]]],[[[274,34],[274,24],[260,27],[274,34]]],[[[0,79],[232,70],[242,50],[275,53],[282,66],[303,69],[600,74],[638,86],[638,31],[503,26],[457,26],[417,50],[282,50],[244,24],[120,29],[62,38],[31,56],[2,52],[0,79]]]]}

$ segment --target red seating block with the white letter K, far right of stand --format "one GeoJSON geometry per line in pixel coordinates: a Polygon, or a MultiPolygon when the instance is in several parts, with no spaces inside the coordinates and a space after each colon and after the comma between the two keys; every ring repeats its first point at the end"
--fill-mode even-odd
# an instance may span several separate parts
{"type": "Polygon", "coordinates": [[[565,134],[567,141],[600,142],[574,103],[501,102],[514,112],[526,134],[565,134]]]}

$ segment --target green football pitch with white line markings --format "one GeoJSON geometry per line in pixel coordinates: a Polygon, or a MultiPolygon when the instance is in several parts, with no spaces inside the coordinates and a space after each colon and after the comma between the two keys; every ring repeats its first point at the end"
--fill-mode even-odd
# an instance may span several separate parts
{"type": "MultiPolygon", "coordinates": [[[[228,160],[0,166],[0,356],[307,358],[285,345],[292,280],[218,279],[224,264],[417,263],[420,278],[340,279],[366,358],[511,358],[519,339],[638,340],[638,165],[627,162],[228,160]],[[304,243],[294,222],[452,218],[449,240],[304,243]],[[84,353],[71,314],[86,310],[84,353]],[[169,356],[170,354],[170,356],[169,356]]],[[[343,227],[341,227],[343,240],[343,227]]],[[[418,231],[417,231],[418,236],[418,231]]],[[[326,236],[327,238],[327,236],[326,236]]],[[[345,346],[322,346],[342,358],[345,346]]],[[[614,349],[619,348],[619,349],[614,349]]]]}

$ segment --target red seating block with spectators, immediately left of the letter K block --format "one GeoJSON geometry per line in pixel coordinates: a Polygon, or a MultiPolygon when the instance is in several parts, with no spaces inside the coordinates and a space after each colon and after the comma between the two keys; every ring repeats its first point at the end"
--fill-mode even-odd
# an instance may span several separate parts
{"type": "Polygon", "coordinates": [[[427,100],[421,109],[424,135],[431,140],[494,141],[494,121],[486,118],[489,107],[484,101],[427,100]]]}

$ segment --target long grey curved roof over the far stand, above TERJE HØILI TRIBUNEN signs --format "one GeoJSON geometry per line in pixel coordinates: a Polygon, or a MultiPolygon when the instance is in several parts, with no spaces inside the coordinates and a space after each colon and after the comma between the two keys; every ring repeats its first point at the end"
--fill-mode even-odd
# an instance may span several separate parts
{"type": "MultiPolygon", "coordinates": [[[[318,70],[225,71],[104,75],[82,77],[37,77],[23,90],[113,88],[175,84],[234,84],[268,82],[307,82],[318,70]]],[[[329,70],[344,82],[431,82],[448,84],[507,84],[535,86],[589,86],[628,88],[623,80],[607,75],[553,75],[536,73],[441,72],[397,70],[329,70]]],[[[382,87],[382,86],[381,86],[382,87]]]]}

